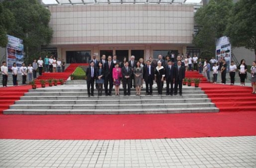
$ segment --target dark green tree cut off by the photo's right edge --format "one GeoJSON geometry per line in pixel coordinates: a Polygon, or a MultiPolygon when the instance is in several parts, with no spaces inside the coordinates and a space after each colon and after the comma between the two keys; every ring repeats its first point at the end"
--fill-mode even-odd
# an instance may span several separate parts
{"type": "Polygon", "coordinates": [[[256,1],[241,0],[234,5],[226,35],[232,46],[254,51],[256,59],[256,1]]]}

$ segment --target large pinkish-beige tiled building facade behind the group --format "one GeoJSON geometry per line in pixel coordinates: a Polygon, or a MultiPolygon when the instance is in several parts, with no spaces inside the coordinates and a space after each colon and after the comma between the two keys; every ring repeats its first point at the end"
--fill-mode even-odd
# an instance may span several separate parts
{"type": "Polygon", "coordinates": [[[67,63],[88,63],[93,54],[98,59],[116,54],[119,60],[132,55],[136,60],[177,56],[187,52],[193,39],[193,5],[52,5],[48,9],[54,31],[50,47],[67,63]]]}

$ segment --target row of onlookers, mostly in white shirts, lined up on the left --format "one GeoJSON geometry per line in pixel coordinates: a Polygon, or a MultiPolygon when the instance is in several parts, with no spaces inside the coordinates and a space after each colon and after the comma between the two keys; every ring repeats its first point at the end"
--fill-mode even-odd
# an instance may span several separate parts
{"type": "MultiPolygon", "coordinates": [[[[19,73],[22,74],[22,84],[25,85],[27,82],[27,76],[29,77],[29,82],[33,79],[37,78],[37,69],[39,71],[39,76],[42,75],[42,69],[45,67],[46,73],[56,73],[56,70],[58,73],[61,71],[63,72],[65,70],[66,63],[64,61],[60,61],[55,59],[55,57],[46,56],[44,61],[41,57],[39,57],[38,60],[34,60],[34,62],[31,64],[29,63],[28,66],[25,65],[25,63],[22,63],[22,67],[19,68],[19,73]]],[[[18,67],[16,66],[16,63],[13,63],[12,67],[12,81],[13,86],[17,86],[17,75],[18,75],[18,67]]],[[[3,62],[3,66],[1,66],[1,71],[3,75],[3,86],[7,87],[7,80],[8,80],[8,67],[6,66],[6,61],[3,62]]]]}

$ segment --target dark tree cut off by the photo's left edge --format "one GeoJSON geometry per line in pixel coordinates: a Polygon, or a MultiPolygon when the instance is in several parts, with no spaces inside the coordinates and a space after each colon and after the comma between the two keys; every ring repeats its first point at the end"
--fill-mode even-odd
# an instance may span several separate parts
{"type": "Polygon", "coordinates": [[[6,47],[8,43],[7,31],[13,26],[14,16],[9,9],[0,3],[0,46],[6,47]]]}

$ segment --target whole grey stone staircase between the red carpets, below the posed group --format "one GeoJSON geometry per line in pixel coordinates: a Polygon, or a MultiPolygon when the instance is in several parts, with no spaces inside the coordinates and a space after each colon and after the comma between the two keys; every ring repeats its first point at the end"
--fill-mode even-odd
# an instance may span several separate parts
{"type": "MultiPolygon", "coordinates": [[[[219,112],[201,88],[183,87],[183,95],[88,97],[86,85],[59,85],[29,90],[19,101],[5,110],[4,114],[150,114],[150,113],[191,113],[219,112]]],[[[113,94],[114,91],[113,91],[113,94]]]]}

